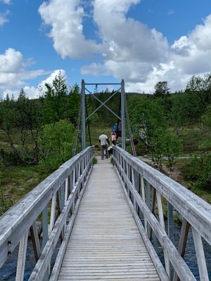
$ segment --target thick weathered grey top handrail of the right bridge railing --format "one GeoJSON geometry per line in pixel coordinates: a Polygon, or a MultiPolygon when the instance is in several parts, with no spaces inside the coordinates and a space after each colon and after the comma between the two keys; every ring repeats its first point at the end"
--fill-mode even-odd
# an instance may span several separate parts
{"type": "MultiPolygon", "coordinates": [[[[115,146],[113,148],[115,155],[121,154],[127,163],[133,166],[143,178],[160,192],[160,195],[172,204],[179,211],[181,216],[186,218],[204,239],[211,244],[211,205],[195,195],[193,192],[184,188],[168,176],[153,169],[153,167],[142,162],[137,157],[132,157],[125,150],[115,146]]],[[[115,161],[115,157],[113,157],[115,161]]],[[[120,169],[118,167],[118,169],[120,169]]]]}

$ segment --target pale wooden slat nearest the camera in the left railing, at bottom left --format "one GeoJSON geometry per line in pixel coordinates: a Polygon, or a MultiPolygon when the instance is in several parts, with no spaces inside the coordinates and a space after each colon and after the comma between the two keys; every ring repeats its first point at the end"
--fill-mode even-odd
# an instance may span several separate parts
{"type": "Polygon", "coordinates": [[[25,270],[25,258],[27,252],[27,241],[28,241],[28,231],[20,240],[15,281],[23,281],[24,270],[25,270]]]}

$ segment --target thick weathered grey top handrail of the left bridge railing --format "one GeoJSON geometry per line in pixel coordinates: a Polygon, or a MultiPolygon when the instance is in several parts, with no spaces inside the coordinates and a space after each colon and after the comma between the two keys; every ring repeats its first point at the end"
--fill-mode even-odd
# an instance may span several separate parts
{"type": "Polygon", "coordinates": [[[30,229],[32,223],[43,211],[43,207],[49,203],[52,194],[55,194],[60,187],[59,183],[65,181],[80,159],[91,151],[86,148],[68,162],[61,165],[53,174],[39,183],[36,188],[29,192],[22,200],[17,202],[0,219],[0,267],[8,259],[8,241],[10,250],[13,251],[25,235],[25,231],[30,229]]]}

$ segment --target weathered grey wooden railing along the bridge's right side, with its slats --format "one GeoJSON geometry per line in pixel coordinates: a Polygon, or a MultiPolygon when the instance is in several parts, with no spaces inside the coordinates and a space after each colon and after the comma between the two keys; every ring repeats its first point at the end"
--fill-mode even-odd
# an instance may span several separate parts
{"type": "Polygon", "coordinates": [[[184,261],[188,230],[191,229],[200,280],[208,281],[203,239],[211,244],[210,204],[117,146],[113,147],[113,164],[161,280],[196,280],[184,261]],[[164,208],[167,210],[167,230],[164,208]],[[177,248],[174,246],[173,210],[182,219],[177,248]],[[156,254],[157,240],[163,250],[165,266],[156,254]]]}

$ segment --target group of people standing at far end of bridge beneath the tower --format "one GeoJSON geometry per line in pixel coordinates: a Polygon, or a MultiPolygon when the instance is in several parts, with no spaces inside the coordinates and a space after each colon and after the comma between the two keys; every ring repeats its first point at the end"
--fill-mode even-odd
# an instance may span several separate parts
{"type": "Polygon", "coordinates": [[[108,136],[104,133],[104,131],[101,131],[101,136],[99,136],[98,141],[101,143],[101,159],[104,159],[105,157],[105,151],[106,151],[106,159],[110,156],[110,153],[112,153],[112,146],[108,148],[108,145],[110,145],[110,139],[113,143],[113,145],[117,144],[117,139],[122,138],[122,126],[120,124],[115,124],[112,127],[112,131],[110,133],[110,138],[108,139],[108,136]],[[110,152],[110,153],[109,153],[110,152]]]}

